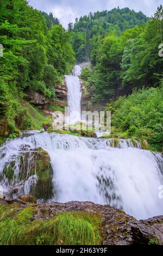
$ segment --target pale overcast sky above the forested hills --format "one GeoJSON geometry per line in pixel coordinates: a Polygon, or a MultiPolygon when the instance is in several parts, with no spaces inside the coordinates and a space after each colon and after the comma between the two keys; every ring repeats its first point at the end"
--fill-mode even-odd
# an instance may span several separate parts
{"type": "Polygon", "coordinates": [[[151,17],[162,0],[29,0],[34,8],[53,13],[62,25],[67,28],[69,22],[76,17],[87,15],[90,11],[111,10],[115,7],[129,7],[135,11],[142,11],[151,17]]]}

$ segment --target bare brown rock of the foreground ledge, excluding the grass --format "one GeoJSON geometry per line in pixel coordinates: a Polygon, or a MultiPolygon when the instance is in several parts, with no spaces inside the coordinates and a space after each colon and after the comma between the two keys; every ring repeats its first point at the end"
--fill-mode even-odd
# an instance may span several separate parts
{"type": "MultiPolygon", "coordinates": [[[[11,209],[11,200],[10,200],[11,209]]],[[[8,202],[0,200],[0,205],[8,202]]],[[[17,211],[28,208],[28,203],[21,200],[12,201],[13,208],[17,206],[17,211]]],[[[132,245],[141,244],[162,244],[163,241],[163,216],[149,218],[145,221],[137,221],[121,210],[112,208],[109,205],[98,205],[91,202],[68,202],[68,203],[42,203],[30,204],[34,209],[32,222],[36,220],[52,220],[58,214],[66,212],[85,212],[100,216],[99,232],[101,233],[102,245],[132,245]]]]}

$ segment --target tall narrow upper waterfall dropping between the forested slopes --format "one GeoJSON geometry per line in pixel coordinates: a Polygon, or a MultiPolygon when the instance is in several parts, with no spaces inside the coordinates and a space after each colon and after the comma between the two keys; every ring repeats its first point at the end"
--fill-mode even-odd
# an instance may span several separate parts
{"type": "Polygon", "coordinates": [[[81,74],[80,66],[74,66],[72,72],[73,75],[66,75],[65,82],[67,87],[67,101],[68,107],[70,107],[70,124],[77,123],[81,120],[81,97],[82,90],[79,80],[79,75],[81,74]]]}

